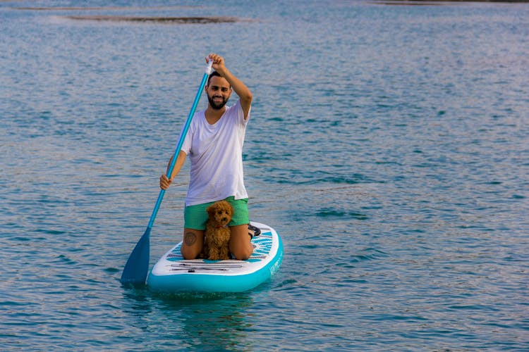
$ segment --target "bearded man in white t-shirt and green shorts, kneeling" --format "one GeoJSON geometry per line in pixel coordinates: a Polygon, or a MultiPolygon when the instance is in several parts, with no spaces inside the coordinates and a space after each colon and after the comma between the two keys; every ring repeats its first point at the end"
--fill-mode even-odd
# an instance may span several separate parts
{"type": "Polygon", "coordinates": [[[169,187],[189,156],[191,170],[184,210],[182,256],[186,259],[198,256],[204,243],[205,209],[215,201],[226,199],[234,210],[229,223],[229,248],[233,256],[245,260],[253,252],[248,235],[248,194],[243,180],[242,155],[252,93],[226,68],[224,58],[217,54],[209,54],[206,61],[208,58],[213,61],[214,72],[205,86],[207,108],[195,113],[172,175],[169,179],[162,175],[160,187],[169,187]],[[233,106],[226,106],[233,90],[239,100],[233,106]]]}

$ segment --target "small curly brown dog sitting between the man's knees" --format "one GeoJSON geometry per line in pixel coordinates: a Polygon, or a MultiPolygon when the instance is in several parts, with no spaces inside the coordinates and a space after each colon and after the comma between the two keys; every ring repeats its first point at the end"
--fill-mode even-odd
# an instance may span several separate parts
{"type": "Polygon", "coordinates": [[[228,223],[233,207],[227,201],[217,201],[206,209],[208,220],[201,257],[209,260],[229,259],[230,229],[228,223]]]}

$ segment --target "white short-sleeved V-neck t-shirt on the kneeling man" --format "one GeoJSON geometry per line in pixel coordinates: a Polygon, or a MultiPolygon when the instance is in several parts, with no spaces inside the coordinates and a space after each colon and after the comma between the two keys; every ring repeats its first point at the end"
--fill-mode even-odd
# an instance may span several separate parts
{"type": "Polygon", "coordinates": [[[244,187],[243,144],[246,125],[241,101],[226,108],[224,115],[209,125],[205,111],[195,113],[181,151],[191,161],[186,206],[219,201],[229,196],[248,198],[244,187]]]}

